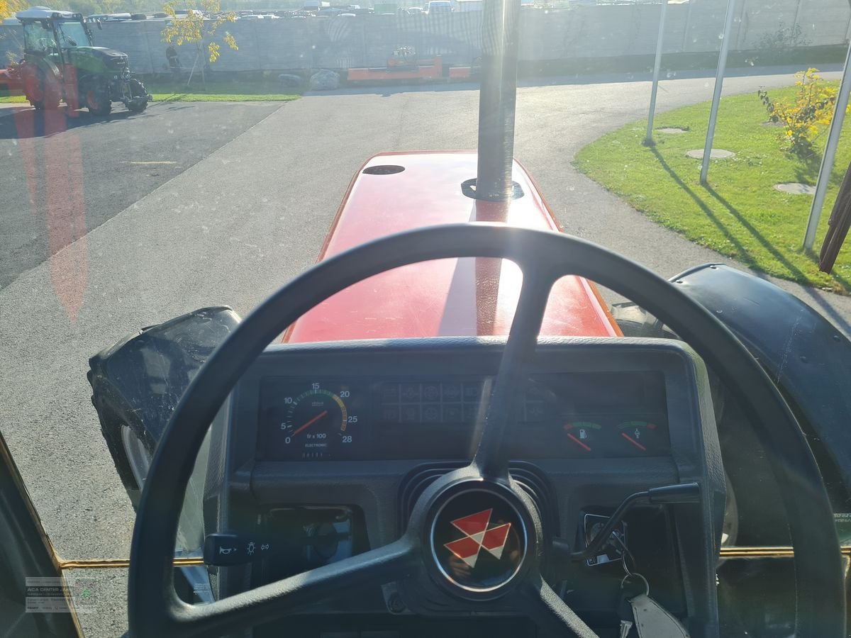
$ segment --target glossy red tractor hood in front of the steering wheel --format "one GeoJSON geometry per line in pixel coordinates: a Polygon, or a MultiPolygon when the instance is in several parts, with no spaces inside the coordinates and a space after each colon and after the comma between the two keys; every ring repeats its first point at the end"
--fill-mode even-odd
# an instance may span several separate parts
{"type": "MultiPolygon", "coordinates": [[[[381,236],[468,221],[560,231],[532,179],[517,162],[523,197],[480,202],[461,192],[476,175],[475,151],[381,153],[349,185],[319,259],[381,236]],[[385,165],[395,174],[367,174],[385,165]]],[[[505,335],[520,293],[517,265],[499,259],[440,259],[374,276],[346,288],[302,316],[284,341],[505,335]]],[[[553,287],[542,335],[617,336],[620,330],[597,289],[581,277],[553,287]]]]}

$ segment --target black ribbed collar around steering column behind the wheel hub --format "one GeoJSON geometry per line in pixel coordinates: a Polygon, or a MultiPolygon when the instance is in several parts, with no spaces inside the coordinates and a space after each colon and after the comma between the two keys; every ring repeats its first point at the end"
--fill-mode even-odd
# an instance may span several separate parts
{"type": "MultiPolygon", "coordinates": [[[[463,467],[463,463],[431,463],[416,467],[405,477],[399,492],[399,531],[403,533],[408,528],[408,520],[414,511],[414,504],[420,498],[426,487],[447,472],[463,467]]],[[[511,478],[525,490],[534,504],[538,507],[545,533],[548,535],[558,529],[558,507],[556,495],[550,481],[534,464],[526,461],[512,461],[509,464],[511,478]]]]}

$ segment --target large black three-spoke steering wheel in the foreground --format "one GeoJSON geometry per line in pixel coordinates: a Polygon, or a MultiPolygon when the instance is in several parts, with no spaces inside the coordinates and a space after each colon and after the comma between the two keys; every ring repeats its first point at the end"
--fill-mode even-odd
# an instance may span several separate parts
{"type": "Polygon", "coordinates": [[[540,517],[509,476],[504,444],[521,403],[514,389],[528,376],[551,286],[568,274],[585,276],[643,306],[687,341],[734,392],[768,450],[783,495],[795,554],[795,635],[844,638],[842,556],[824,482],[795,417],[745,346],[675,285],[629,259],[562,233],[479,223],[404,232],[326,259],[258,306],[210,356],[175,408],[145,482],[130,553],[130,633],[220,635],[269,622],[343,590],[431,574],[446,595],[471,611],[510,600],[546,632],[593,636],[541,577],[546,548],[540,517]],[[391,544],[207,605],[181,601],[174,591],[172,561],[186,483],[208,425],[254,359],[307,310],[353,283],[398,266],[460,257],[511,259],[523,271],[520,300],[471,463],[422,493],[407,531],[391,544]],[[440,566],[431,546],[437,517],[471,491],[483,492],[515,516],[517,561],[511,573],[487,586],[436,570],[440,566]]]}

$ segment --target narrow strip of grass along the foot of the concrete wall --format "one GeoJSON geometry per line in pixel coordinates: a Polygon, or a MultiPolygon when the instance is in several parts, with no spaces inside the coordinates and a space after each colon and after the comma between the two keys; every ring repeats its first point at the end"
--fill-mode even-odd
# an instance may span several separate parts
{"type": "MultiPolygon", "coordinates": [[[[300,94],[281,93],[278,83],[263,82],[208,82],[193,79],[189,88],[184,83],[146,83],[155,102],[288,102],[298,100],[300,94]]],[[[0,104],[26,104],[23,95],[0,93],[0,104]]]]}

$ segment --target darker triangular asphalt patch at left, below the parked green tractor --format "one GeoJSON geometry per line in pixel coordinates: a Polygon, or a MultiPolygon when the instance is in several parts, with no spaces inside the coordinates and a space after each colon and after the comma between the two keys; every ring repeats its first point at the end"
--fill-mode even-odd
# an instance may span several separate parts
{"type": "Polygon", "coordinates": [[[0,110],[0,288],[97,228],[169,179],[208,157],[280,105],[154,103],[109,117],[64,109],[0,110]],[[6,111],[5,113],[3,111],[6,111]],[[65,228],[66,204],[83,203],[84,220],[65,228]],[[56,229],[54,229],[56,230],[56,229]]]}

